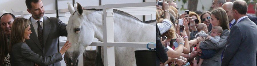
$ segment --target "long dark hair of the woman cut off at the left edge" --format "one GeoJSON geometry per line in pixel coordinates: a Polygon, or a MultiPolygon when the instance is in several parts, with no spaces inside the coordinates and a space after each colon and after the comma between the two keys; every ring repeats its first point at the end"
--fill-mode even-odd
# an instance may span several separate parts
{"type": "Polygon", "coordinates": [[[5,56],[8,54],[8,42],[7,35],[5,34],[5,30],[0,28],[0,65],[4,63],[5,56]]]}

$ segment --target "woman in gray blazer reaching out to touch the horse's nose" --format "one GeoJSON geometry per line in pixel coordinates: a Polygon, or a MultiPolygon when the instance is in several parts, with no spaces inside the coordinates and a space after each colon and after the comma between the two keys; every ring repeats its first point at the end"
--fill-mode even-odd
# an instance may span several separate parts
{"type": "Polygon", "coordinates": [[[28,40],[31,34],[30,21],[25,18],[16,18],[13,22],[13,26],[14,27],[11,28],[12,33],[10,40],[11,66],[35,66],[35,64],[45,66],[53,64],[61,61],[63,59],[61,55],[70,48],[71,43],[67,41],[60,52],[48,57],[43,57],[34,53],[25,43],[25,40],[28,40]]]}

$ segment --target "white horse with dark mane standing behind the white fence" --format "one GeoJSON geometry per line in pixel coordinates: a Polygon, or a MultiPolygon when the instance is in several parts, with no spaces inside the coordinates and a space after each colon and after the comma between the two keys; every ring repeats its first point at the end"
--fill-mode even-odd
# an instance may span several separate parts
{"type": "MultiPolygon", "coordinates": [[[[77,10],[68,3],[71,13],[68,25],[67,40],[72,44],[65,53],[65,63],[69,66],[78,65],[78,57],[83,54],[93,38],[103,42],[102,10],[83,10],[77,3],[77,10]]],[[[156,26],[140,21],[138,18],[114,9],[114,42],[153,42],[156,41],[156,26]]],[[[156,21],[154,21],[156,22],[156,21]]],[[[134,50],[146,48],[115,47],[115,65],[135,66],[134,50]]],[[[101,51],[103,52],[103,51],[101,51]]],[[[154,58],[154,57],[153,57],[154,58]]],[[[102,54],[103,59],[103,54],[102,54]]]]}

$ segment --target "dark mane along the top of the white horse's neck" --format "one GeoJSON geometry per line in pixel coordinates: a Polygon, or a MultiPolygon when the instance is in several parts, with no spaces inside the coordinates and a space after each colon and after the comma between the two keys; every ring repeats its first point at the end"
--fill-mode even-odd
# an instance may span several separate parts
{"type": "MultiPolygon", "coordinates": [[[[87,9],[87,10],[103,11],[102,9],[87,9]]],[[[149,20],[149,21],[143,22],[143,21],[139,20],[138,18],[136,18],[135,16],[130,15],[129,13],[126,13],[126,12],[124,12],[124,11],[117,10],[117,9],[113,9],[113,12],[114,12],[115,14],[127,16],[127,17],[133,18],[133,19],[135,19],[135,20],[137,20],[137,21],[139,21],[139,22],[146,23],[146,24],[152,23],[152,22],[156,22],[156,20],[149,20]]]]}

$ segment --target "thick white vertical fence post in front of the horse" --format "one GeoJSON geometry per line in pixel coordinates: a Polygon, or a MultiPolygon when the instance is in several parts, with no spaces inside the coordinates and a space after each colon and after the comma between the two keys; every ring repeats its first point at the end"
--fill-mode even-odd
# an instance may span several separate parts
{"type": "Polygon", "coordinates": [[[114,42],[114,20],[113,8],[103,7],[102,24],[103,24],[103,51],[104,66],[115,66],[114,47],[108,46],[107,42],[114,42]]]}

